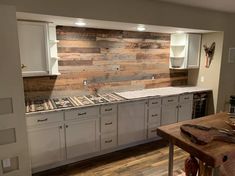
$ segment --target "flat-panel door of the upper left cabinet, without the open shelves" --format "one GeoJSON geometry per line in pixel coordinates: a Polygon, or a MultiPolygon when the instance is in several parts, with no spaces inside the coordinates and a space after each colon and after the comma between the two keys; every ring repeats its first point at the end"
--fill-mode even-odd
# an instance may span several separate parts
{"type": "Polygon", "coordinates": [[[46,23],[18,22],[23,76],[48,74],[48,29],[46,23]]]}

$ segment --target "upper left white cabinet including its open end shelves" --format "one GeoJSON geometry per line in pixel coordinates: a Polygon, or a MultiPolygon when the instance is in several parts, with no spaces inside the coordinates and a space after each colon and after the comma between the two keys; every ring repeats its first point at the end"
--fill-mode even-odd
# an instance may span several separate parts
{"type": "Polygon", "coordinates": [[[56,29],[49,23],[18,21],[22,75],[58,75],[56,29]]]}

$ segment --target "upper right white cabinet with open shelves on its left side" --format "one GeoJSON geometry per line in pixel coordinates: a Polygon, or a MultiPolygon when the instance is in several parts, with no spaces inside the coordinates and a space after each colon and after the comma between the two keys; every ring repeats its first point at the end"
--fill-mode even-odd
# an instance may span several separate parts
{"type": "Polygon", "coordinates": [[[170,68],[199,68],[201,34],[172,34],[170,68]]]}

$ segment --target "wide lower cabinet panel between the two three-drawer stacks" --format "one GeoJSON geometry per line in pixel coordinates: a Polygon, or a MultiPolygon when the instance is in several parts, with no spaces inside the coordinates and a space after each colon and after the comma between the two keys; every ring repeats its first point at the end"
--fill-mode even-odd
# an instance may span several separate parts
{"type": "Polygon", "coordinates": [[[128,102],[118,106],[118,144],[124,145],[147,138],[146,102],[128,102]]]}

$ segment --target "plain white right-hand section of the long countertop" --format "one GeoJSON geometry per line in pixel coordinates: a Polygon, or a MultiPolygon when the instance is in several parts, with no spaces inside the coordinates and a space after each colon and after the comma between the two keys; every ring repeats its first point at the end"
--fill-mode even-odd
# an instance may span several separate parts
{"type": "Polygon", "coordinates": [[[142,89],[136,91],[125,91],[125,92],[115,92],[117,95],[122,96],[126,99],[139,99],[146,97],[163,97],[171,96],[192,92],[204,92],[211,91],[210,88],[201,88],[195,86],[185,86],[185,87],[162,87],[162,88],[153,88],[153,89],[142,89]]]}

